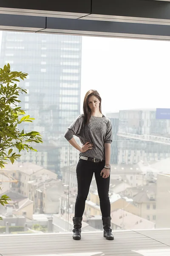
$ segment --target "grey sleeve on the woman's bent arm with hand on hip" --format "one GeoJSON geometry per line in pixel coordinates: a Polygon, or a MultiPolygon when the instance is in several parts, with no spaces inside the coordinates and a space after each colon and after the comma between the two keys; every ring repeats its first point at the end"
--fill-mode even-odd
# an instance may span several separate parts
{"type": "Polygon", "coordinates": [[[81,128],[82,128],[82,116],[78,116],[77,119],[68,127],[67,131],[64,134],[66,140],[71,140],[74,135],[79,137],[81,128]]]}

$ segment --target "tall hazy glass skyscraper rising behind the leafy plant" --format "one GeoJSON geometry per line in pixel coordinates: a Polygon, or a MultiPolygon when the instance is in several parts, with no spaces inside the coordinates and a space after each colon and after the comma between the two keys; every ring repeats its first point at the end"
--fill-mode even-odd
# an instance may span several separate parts
{"type": "Polygon", "coordinates": [[[23,152],[22,161],[59,174],[64,132],[80,113],[81,55],[80,36],[3,32],[0,67],[28,73],[19,83],[28,92],[20,105],[35,120],[20,129],[39,131],[44,142],[35,145],[38,152],[23,152]]]}

